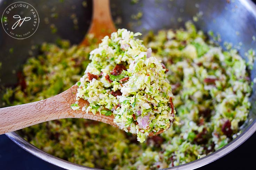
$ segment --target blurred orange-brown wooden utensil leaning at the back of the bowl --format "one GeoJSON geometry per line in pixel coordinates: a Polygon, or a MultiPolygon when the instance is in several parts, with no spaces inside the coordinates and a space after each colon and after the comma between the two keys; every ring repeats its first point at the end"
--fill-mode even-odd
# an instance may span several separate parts
{"type": "MultiPolygon", "coordinates": [[[[93,0],[92,24],[88,33],[94,34],[94,37],[100,42],[104,36],[110,36],[115,31],[116,28],[111,17],[109,0],[93,0]]],[[[88,40],[85,37],[80,45],[87,44],[88,40]]]]}

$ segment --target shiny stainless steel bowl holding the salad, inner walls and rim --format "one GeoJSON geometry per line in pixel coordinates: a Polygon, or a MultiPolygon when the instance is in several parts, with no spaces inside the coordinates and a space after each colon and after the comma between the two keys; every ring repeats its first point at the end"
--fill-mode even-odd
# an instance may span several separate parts
{"type": "MultiPolygon", "coordinates": [[[[56,12],[63,17],[59,20],[52,19],[51,22],[54,23],[56,27],[65,27],[65,29],[49,36],[51,35],[48,28],[49,26],[42,22],[42,24],[39,25],[37,33],[31,36],[30,39],[22,41],[22,44],[21,41],[12,40],[2,31],[0,34],[0,61],[3,62],[1,85],[15,83],[15,77],[11,74],[11,70],[17,70],[20,65],[24,63],[31,44],[40,44],[42,41],[53,42],[58,37],[70,39],[73,43],[79,43],[85,34],[84,30],[88,30],[88,26],[90,25],[92,12],[91,1],[87,1],[86,8],[79,6],[79,4],[82,3],[81,0],[64,1],[62,5],[59,5],[57,0],[48,1],[47,3],[42,0],[30,2],[36,9],[40,9],[38,13],[41,20],[49,15],[47,14],[48,8],[52,9],[55,7],[56,12]],[[41,8],[43,6],[46,7],[41,8]],[[75,11],[70,9],[74,6],[76,6],[75,11]],[[75,12],[80,18],[79,29],[75,31],[71,29],[72,22],[68,19],[68,16],[70,16],[72,12],[75,12]],[[10,46],[15,46],[17,51],[14,50],[14,53],[8,54],[10,46]],[[9,59],[6,59],[6,57],[9,57],[9,59]],[[12,59],[11,62],[9,61],[10,59],[12,59]]],[[[0,1],[0,3],[0,9],[6,8],[3,1],[0,1]]],[[[242,43],[239,52],[244,58],[244,53],[248,49],[252,48],[256,50],[256,42],[253,39],[253,36],[256,36],[256,6],[250,0],[140,0],[135,4],[132,4],[130,0],[111,0],[110,5],[113,19],[117,21],[117,27],[124,27],[131,31],[146,33],[148,30],[152,29],[157,31],[163,28],[179,28],[184,25],[184,22],[192,20],[193,16],[197,16],[198,21],[195,23],[196,27],[202,29],[205,33],[212,30],[214,33],[219,34],[222,39],[220,45],[223,45],[224,41],[232,42],[234,45],[241,45],[242,43]],[[142,11],[142,18],[139,20],[132,19],[131,15],[137,14],[138,11],[142,11]]],[[[254,68],[251,71],[251,79],[255,76],[256,63],[254,63],[254,68]]],[[[250,98],[252,109],[248,120],[242,126],[240,136],[228,145],[204,158],[169,169],[195,169],[201,167],[221,158],[245,142],[246,139],[256,131],[255,90],[256,85],[253,87],[253,95],[250,98]]],[[[6,135],[24,150],[49,163],[70,170],[91,169],[49,155],[26,142],[16,132],[6,135]]]]}

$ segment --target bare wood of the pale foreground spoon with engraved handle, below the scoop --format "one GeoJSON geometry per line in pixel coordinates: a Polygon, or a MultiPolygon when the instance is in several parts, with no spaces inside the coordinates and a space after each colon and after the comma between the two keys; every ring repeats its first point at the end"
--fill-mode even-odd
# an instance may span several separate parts
{"type": "MultiPolygon", "coordinates": [[[[85,118],[102,121],[116,126],[113,115],[104,116],[96,113],[74,111],[70,108],[75,103],[77,86],[73,85],[68,90],[38,102],[21,104],[0,109],[0,134],[19,130],[41,122],[63,118],[85,118]]],[[[86,106],[85,100],[80,100],[79,105],[86,106]]]]}

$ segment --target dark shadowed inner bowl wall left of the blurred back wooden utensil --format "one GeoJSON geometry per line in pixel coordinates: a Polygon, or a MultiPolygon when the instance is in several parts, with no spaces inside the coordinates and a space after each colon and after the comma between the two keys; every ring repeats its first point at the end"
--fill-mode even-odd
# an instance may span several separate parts
{"type": "MultiPolygon", "coordinates": [[[[0,0],[0,12],[14,2],[17,0],[0,0]]],[[[28,57],[38,54],[39,44],[56,42],[59,39],[68,39],[71,43],[78,44],[83,40],[91,23],[91,0],[65,0],[64,2],[60,0],[26,0],[25,2],[37,10],[40,24],[33,36],[24,40],[10,37],[1,26],[0,62],[3,67],[0,72],[0,85],[8,86],[17,82],[16,73],[28,57]],[[87,2],[85,7],[82,6],[83,1],[87,2]]]]}

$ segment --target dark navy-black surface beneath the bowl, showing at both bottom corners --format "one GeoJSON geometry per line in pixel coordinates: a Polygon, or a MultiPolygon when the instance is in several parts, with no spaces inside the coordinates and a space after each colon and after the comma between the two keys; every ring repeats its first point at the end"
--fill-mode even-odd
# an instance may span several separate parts
{"type": "MultiPolygon", "coordinates": [[[[253,0],[256,2],[256,0],[253,0]]],[[[205,165],[204,169],[255,169],[256,133],[231,153],[205,165]]],[[[0,170],[63,170],[47,163],[12,142],[6,135],[0,135],[0,170]]]]}

